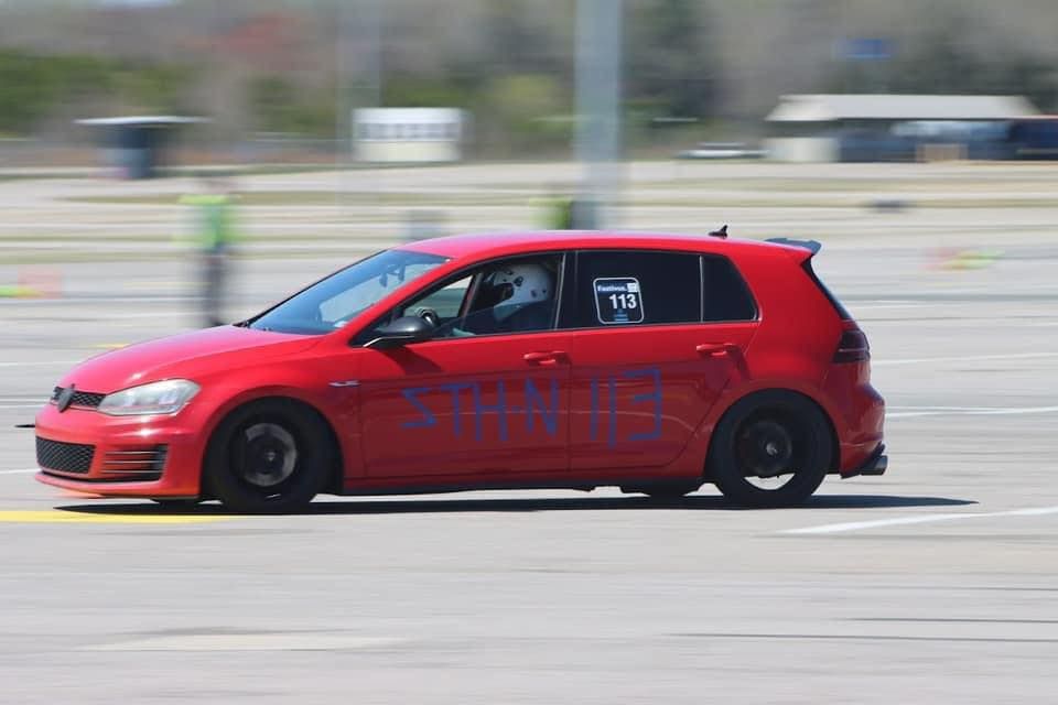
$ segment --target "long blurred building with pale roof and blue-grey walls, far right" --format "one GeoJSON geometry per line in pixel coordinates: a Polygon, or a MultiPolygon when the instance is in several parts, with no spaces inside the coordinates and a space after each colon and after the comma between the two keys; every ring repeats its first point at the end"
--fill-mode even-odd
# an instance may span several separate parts
{"type": "Polygon", "coordinates": [[[1037,115],[1019,96],[789,95],[766,147],[781,162],[1006,159],[1011,123],[1037,115]]]}

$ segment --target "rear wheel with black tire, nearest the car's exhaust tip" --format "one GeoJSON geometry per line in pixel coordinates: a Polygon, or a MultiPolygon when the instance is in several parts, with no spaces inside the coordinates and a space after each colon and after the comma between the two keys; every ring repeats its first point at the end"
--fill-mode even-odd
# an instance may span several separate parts
{"type": "Polygon", "coordinates": [[[736,505],[794,507],[823,481],[832,448],[830,423],[813,402],[760,392],[735,403],[716,425],[706,470],[736,505]],[[781,485],[768,487],[773,482],[781,485]]]}

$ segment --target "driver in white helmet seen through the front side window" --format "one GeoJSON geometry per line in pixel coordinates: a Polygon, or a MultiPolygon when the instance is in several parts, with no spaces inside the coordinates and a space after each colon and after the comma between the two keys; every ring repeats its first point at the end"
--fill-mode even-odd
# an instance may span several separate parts
{"type": "Polygon", "coordinates": [[[454,335],[519,333],[551,327],[554,284],[551,273],[542,264],[501,264],[485,275],[478,295],[492,305],[468,315],[453,330],[454,335]]]}

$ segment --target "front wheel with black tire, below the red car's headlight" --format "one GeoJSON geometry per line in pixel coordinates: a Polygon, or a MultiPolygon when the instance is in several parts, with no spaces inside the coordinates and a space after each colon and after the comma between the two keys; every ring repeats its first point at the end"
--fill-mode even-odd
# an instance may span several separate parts
{"type": "Polygon", "coordinates": [[[298,512],[326,487],[333,460],[327,426],[312,409],[266,399],[235,410],[214,432],[203,486],[231,511],[298,512]]]}

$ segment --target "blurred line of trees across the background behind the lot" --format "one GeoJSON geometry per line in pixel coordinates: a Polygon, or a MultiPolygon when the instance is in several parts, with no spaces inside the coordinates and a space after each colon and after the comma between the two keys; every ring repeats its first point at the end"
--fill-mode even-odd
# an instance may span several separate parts
{"type": "MultiPolygon", "coordinates": [[[[1033,34],[1058,25],[1058,7],[1011,0],[1006,20],[1019,22],[1000,22],[978,0],[893,4],[902,10],[866,0],[626,0],[626,142],[752,131],[782,93],[1019,94],[1058,108],[1055,48],[1033,34]],[[886,54],[846,56],[850,37],[881,37],[886,54]]],[[[380,102],[464,108],[488,154],[568,149],[575,0],[375,7],[370,18],[366,0],[6,3],[0,134],[147,111],[209,116],[234,139],[334,139],[347,128],[345,107],[380,102]]]]}

